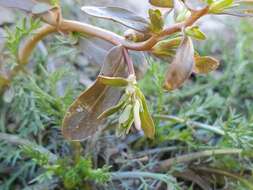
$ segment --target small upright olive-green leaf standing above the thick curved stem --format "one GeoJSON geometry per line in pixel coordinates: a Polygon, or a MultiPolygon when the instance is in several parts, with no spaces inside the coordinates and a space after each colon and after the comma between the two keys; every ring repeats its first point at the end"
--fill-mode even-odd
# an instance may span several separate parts
{"type": "Polygon", "coordinates": [[[152,32],[159,33],[162,31],[164,26],[163,16],[159,9],[153,10],[149,9],[149,18],[151,21],[151,30],[152,32]]]}

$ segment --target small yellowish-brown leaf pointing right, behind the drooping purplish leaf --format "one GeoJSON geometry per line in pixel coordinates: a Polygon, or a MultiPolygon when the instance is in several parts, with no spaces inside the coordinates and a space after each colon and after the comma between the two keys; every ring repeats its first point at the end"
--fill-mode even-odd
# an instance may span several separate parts
{"type": "Polygon", "coordinates": [[[219,61],[213,57],[197,56],[195,57],[195,65],[194,65],[193,71],[197,74],[209,73],[211,71],[216,70],[218,66],[219,66],[219,61]]]}

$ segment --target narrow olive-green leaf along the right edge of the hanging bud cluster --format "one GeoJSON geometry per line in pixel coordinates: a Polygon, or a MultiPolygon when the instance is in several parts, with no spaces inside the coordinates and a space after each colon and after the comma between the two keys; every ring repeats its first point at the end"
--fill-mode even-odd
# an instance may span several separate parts
{"type": "Polygon", "coordinates": [[[149,113],[146,98],[139,88],[136,88],[136,92],[143,107],[143,110],[140,112],[141,128],[143,129],[145,136],[153,139],[155,136],[155,124],[149,113]]]}

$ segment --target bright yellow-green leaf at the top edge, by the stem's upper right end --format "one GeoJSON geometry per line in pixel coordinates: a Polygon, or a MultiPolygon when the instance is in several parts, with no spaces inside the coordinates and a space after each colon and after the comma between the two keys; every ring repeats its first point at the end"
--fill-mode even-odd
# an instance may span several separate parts
{"type": "Polygon", "coordinates": [[[218,0],[214,1],[209,8],[209,13],[219,14],[222,13],[225,9],[231,7],[234,3],[234,0],[218,0]]]}

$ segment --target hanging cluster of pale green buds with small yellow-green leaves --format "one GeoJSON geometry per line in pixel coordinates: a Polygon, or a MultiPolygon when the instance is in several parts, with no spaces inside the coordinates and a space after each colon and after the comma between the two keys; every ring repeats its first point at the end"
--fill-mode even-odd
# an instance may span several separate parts
{"type": "Polygon", "coordinates": [[[129,133],[134,124],[137,130],[143,130],[149,138],[154,137],[154,122],[148,111],[145,97],[137,86],[134,75],[127,79],[121,77],[99,76],[98,80],[113,87],[124,87],[125,93],[117,105],[105,110],[99,115],[99,119],[119,113],[117,135],[124,136],[129,133]]]}

